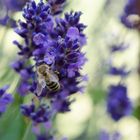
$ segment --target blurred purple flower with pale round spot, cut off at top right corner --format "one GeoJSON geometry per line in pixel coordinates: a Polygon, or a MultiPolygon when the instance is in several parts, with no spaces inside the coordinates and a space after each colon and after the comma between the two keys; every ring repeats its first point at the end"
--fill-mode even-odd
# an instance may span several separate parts
{"type": "Polygon", "coordinates": [[[121,17],[122,23],[133,29],[140,29],[140,1],[128,0],[124,14],[121,17]]]}

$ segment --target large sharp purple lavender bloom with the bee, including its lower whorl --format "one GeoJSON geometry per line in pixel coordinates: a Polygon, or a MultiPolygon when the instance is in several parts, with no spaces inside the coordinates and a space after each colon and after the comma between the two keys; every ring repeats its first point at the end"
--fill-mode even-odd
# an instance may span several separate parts
{"type": "MultiPolygon", "coordinates": [[[[80,70],[86,58],[81,49],[86,43],[83,33],[86,26],[80,23],[81,12],[59,17],[64,3],[65,0],[28,2],[23,9],[25,21],[19,21],[19,27],[15,29],[24,43],[14,41],[20,59],[12,67],[21,77],[18,93],[21,96],[32,94],[32,100],[37,99],[37,103],[21,105],[21,112],[33,125],[51,122],[57,113],[70,111],[69,96],[83,88],[80,70]],[[50,75],[53,73],[57,77],[60,84],[57,91],[50,90],[46,79],[45,84],[39,84],[38,67],[42,64],[49,67],[50,75]]],[[[54,138],[48,132],[35,135],[38,140],[54,138]]]]}

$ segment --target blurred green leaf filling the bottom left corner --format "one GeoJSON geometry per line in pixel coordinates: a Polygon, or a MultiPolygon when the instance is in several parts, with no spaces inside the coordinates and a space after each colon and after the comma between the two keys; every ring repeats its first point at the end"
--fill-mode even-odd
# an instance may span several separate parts
{"type": "Polygon", "coordinates": [[[15,101],[0,118],[0,140],[20,140],[26,125],[20,113],[22,98],[16,94],[15,101]]]}

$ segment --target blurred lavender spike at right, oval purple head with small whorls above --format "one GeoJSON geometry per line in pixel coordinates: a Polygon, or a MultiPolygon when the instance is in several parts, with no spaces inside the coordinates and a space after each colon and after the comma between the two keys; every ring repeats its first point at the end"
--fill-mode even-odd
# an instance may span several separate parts
{"type": "MultiPolygon", "coordinates": [[[[111,54],[126,50],[128,46],[124,43],[119,45],[112,45],[111,54]]],[[[117,68],[112,64],[109,65],[108,73],[113,76],[119,76],[121,81],[118,85],[110,85],[107,95],[107,111],[115,121],[120,120],[122,117],[130,115],[132,112],[132,104],[127,97],[127,87],[122,84],[130,71],[126,70],[126,66],[117,68]]]]}

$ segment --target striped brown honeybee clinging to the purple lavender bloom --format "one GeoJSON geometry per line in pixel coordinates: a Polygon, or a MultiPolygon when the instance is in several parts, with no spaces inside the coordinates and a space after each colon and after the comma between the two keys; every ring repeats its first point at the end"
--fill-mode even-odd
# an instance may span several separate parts
{"type": "Polygon", "coordinates": [[[47,87],[50,91],[56,92],[60,89],[57,72],[54,72],[47,64],[37,66],[38,87],[37,94],[40,95],[43,88],[47,87]]]}

